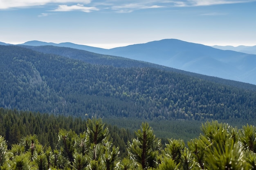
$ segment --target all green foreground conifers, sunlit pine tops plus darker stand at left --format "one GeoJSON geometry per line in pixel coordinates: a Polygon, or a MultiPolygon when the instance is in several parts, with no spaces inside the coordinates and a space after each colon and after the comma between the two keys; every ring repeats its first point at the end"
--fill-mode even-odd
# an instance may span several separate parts
{"type": "Polygon", "coordinates": [[[1,170],[254,170],[256,127],[206,121],[198,137],[159,139],[103,123],[0,109],[1,170]],[[7,140],[9,139],[9,141],[7,140]]]}

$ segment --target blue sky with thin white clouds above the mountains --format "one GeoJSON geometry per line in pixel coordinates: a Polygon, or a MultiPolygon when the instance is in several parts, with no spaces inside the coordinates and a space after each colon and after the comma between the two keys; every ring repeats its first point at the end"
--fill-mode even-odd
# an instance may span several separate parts
{"type": "Polygon", "coordinates": [[[256,0],[0,0],[0,42],[256,45],[256,0]]]}

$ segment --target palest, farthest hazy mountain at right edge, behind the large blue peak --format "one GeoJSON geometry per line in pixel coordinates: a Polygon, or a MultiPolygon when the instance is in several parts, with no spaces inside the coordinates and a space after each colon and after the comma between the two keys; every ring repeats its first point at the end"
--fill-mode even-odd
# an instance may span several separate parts
{"type": "Polygon", "coordinates": [[[221,49],[221,50],[232,50],[232,51],[238,51],[242,53],[247,53],[247,54],[256,54],[256,46],[212,46],[213,48],[216,49],[221,49]]]}

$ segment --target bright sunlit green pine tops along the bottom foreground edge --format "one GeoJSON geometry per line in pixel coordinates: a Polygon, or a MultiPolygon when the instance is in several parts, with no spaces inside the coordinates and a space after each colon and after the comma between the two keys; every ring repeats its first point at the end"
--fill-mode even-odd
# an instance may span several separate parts
{"type": "Polygon", "coordinates": [[[87,124],[91,127],[80,135],[72,129],[59,130],[59,142],[53,151],[42,146],[36,135],[19,139],[18,144],[8,150],[6,141],[0,136],[1,170],[256,169],[256,154],[243,142],[252,138],[254,126],[243,126],[238,130],[225,123],[207,121],[202,124],[203,133],[198,139],[189,141],[189,148],[186,148],[180,139],[168,139],[169,143],[160,147],[153,129],[148,123],[142,123],[141,129],[135,132],[136,138],[132,143],[128,142],[128,155],[121,158],[119,148],[112,145],[109,135],[104,135],[97,144],[94,140],[90,142],[89,132],[95,131],[97,126],[102,127],[99,129],[103,134],[108,134],[101,119],[88,120],[87,124]]]}

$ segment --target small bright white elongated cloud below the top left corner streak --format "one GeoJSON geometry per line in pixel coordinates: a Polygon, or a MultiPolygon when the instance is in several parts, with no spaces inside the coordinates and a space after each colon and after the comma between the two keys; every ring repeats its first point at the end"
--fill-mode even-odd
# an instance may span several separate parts
{"type": "Polygon", "coordinates": [[[52,11],[83,11],[83,12],[91,12],[91,11],[99,11],[96,7],[84,7],[82,4],[76,4],[76,5],[58,5],[57,9],[54,9],[52,11]]]}

